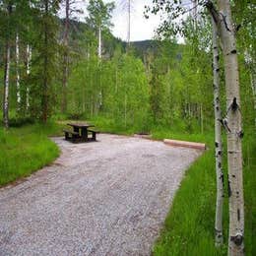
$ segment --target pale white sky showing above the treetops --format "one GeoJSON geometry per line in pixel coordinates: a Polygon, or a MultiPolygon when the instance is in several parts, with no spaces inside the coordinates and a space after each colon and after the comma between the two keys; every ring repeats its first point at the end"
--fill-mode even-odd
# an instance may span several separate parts
{"type": "MultiPolygon", "coordinates": [[[[111,0],[103,0],[104,3],[111,2],[111,0]]],[[[115,10],[112,14],[112,33],[122,40],[127,40],[128,32],[128,14],[124,9],[124,4],[127,0],[114,0],[115,10]]],[[[154,36],[154,31],[160,25],[160,17],[151,15],[149,20],[144,18],[143,12],[145,5],[151,5],[152,0],[131,0],[132,13],[131,13],[131,41],[151,39],[154,36]]],[[[87,16],[86,3],[82,3],[78,0],[78,9],[83,9],[84,14],[80,15],[79,20],[85,21],[87,16]]],[[[60,16],[63,17],[63,10],[60,12],[60,16]]]]}

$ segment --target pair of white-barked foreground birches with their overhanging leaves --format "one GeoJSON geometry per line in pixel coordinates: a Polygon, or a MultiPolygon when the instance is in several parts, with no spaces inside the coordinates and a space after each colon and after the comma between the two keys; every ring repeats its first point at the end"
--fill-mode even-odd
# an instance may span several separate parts
{"type": "MultiPolygon", "coordinates": [[[[254,71],[250,69],[254,65],[253,59],[255,59],[253,42],[255,41],[255,30],[252,29],[255,28],[255,19],[252,16],[247,16],[248,14],[252,15],[253,12],[255,12],[255,4],[246,1],[232,1],[230,3],[227,0],[191,1],[190,4],[186,1],[155,1],[155,5],[146,10],[147,17],[149,13],[167,14],[159,29],[160,36],[169,37],[180,34],[185,38],[192,38],[192,45],[195,45],[196,48],[202,46],[200,43],[202,37],[206,38],[208,43],[212,41],[204,51],[208,52],[210,46],[213,48],[217,180],[216,245],[221,246],[224,242],[223,204],[226,193],[229,208],[228,255],[244,255],[241,141],[244,136],[244,127],[255,131],[255,120],[254,126],[252,122],[252,119],[255,118],[254,71]],[[197,10],[199,10],[198,14],[197,10]],[[208,32],[212,30],[212,39],[202,34],[204,30],[200,28],[199,22],[204,19],[212,20],[212,28],[208,27],[207,30],[208,32]],[[247,75],[246,79],[245,74],[247,75]],[[221,87],[221,81],[224,83],[224,89],[221,87]],[[245,92],[250,93],[245,96],[245,92]],[[225,109],[222,111],[224,100],[225,109]],[[248,108],[242,110],[243,106],[250,108],[251,111],[254,108],[254,111],[251,112],[252,115],[250,111],[248,112],[248,108]],[[245,116],[244,126],[242,125],[242,115],[245,116]],[[226,177],[224,177],[222,164],[224,155],[222,128],[224,128],[227,141],[228,174],[226,177]],[[225,178],[227,190],[224,191],[225,178]]],[[[195,67],[192,69],[196,71],[195,67]]]]}

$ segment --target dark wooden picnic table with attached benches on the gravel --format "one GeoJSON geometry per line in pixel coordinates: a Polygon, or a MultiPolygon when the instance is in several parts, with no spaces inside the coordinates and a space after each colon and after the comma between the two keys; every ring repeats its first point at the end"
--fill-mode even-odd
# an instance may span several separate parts
{"type": "Polygon", "coordinates": [[[67,141],[71,141],[73,143],[96,141],[96,134],[98,133],[98,131],[89,129],[90,127],[95,127],[94,124],[79,122],[67,123],[67,125],[73,128],[72,131],[63,130],[65,134],[65,139],[67,141]]]}

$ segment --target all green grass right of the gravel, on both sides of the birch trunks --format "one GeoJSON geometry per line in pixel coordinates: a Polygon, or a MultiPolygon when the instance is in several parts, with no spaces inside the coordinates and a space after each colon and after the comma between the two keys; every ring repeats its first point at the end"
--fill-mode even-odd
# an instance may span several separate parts
{"type": "MultiPolygon", "coordinates": [[[[203,142],[209,150],[186,172],[177,191],[153,248],[154,255],[226,255],[227,251],[227,198],[224,202],[224,246],[216,249],[214,244],[215,222],[215,159],[213,136],[175,135],[156,132],[157,138],[175,138],[203,142]]],[[[247,255],[256,255],[256,142],[248,135],[244,141],[244,197],[245,197],[245,248],[247,255]],[[254,170],[253,170],[254,169],[254,170]]],[[[226,162],[224,162],[226,166],[226,162]]],[[[226,169],[226,167],[225,167],[226,169]]],[[[226,174],[226,173],[225,173],[226,174]]],[[[226,175],[225,175],[226,176],[226,175]]],[[[225,184],[226,188],[226,184],[225,184]]]]}

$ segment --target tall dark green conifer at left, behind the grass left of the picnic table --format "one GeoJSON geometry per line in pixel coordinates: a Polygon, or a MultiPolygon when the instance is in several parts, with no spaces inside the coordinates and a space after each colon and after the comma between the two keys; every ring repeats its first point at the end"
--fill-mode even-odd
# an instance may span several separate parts
{"type": "Polygon", "coordinates": [[[33,71],[31,87],[31,114],[34,118],[40,118],[43,123],[47,122],[52,113],[54,94],[54,79],[56,78],[56,53],[57,19],[60,0],[40,0],[34,3],[33,24],[36,31],[33,35],[33,71]]]}

